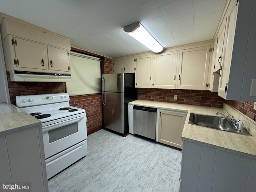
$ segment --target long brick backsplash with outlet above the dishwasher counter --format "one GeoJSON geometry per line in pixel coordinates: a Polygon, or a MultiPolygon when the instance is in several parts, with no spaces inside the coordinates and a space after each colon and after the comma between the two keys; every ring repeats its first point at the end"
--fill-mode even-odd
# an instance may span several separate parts
{"type": "Polygon", "coordinates": [[[138,99],[220,108],[225,102],[217,92],[178,89],[138,88],[138,99]],[[174,100],[174,95],[178,96],[177,100],[174,100]]]}

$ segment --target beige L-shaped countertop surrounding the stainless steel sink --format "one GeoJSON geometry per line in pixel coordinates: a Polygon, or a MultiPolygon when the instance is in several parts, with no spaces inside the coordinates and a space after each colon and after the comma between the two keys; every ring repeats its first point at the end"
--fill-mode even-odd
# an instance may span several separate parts
{"type": "MultiPolygon", "coordinates": [[[[246,156],[248,158],[256,159],[256,139],[253,136],[244,136],[240,134],[235,134],[231,132],[225,132],[221,130],[215,130],[211,128],[205,128],[202,126],[195,126],[188,124],[190,113],[198,114],[208,114],[215,115],[216,112],[223,114],[228,114],[227,110],[229,107],[227,104],[224,104],[224,108],[213,108],[213,107],[204,107],[204,106],[194,106],[186,104],[176,104],[176,103],[167,103],[167,102],[155,102],[148,100],[135,100],[128,103],[130,105],[138,106],[148,106],[158,109],[165,110],[181,110],[188,112],[185,125],[182,132],[182,140],[198,143],[204,146],[216,148],[219,150],[224,150],[234,154],[239,154],[246,156]]],[[[230,114],[232,115],[232,114],[230,114]]],[[[236,116],[234,115],[235,119],[236,116]]],[[[241,120],[241,117],[239,117],[241,120]]],[[[245,122],[245,121],[244,121],[245,122]]],[[[250,123],[250,128],[247,128],[248,119],[246,119],[246,125],[244,128],[250,132],[250,130],[256,130],[256,125],[254,122],[250,123]]],[[[251,133],[252,134],[252,133],[251,133]]]]}

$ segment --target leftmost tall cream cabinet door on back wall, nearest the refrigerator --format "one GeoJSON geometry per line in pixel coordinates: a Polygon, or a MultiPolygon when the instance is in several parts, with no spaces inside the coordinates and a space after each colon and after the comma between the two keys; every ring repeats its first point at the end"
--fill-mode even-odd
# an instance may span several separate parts
{"type": "Polygon", "coordinates": [[[137,57],[135,87],[152,88],[152,55],[137,57]]]}

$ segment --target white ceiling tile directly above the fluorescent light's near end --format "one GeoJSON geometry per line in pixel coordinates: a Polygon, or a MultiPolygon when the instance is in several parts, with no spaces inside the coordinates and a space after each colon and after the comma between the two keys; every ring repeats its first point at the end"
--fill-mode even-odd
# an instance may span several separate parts
{"type": "Polygon", "coordinates": [[[141,23],[162,16],[154,0],[149,0],[135,8],[132,8],[128,12],[136,19],[136,21],[141,23]]]}

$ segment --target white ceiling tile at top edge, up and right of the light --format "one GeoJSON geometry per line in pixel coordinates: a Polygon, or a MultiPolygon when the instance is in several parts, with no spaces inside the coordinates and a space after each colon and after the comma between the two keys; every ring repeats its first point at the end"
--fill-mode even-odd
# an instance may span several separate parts
{"type": "Polygon", "coordinates": [[[177,0],[160,7],[166,21],[193,13],[192,0],[177,0]]]}

